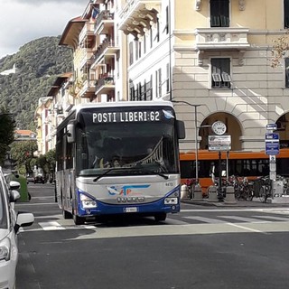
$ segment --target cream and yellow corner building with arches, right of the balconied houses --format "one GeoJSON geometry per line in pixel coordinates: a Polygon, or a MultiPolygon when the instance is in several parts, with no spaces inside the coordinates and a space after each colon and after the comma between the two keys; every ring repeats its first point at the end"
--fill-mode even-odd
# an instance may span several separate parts
{"type": "Polygon", "coordinates": [[[199,147],[207,148],[208,126],[217,120],[227,126],[232,150],[264,150],[268,123],[277,124],[281,145],[288,146],[285,69],[271,67],[274,41],[287,27],[287,3],[123,1],[129,98],[178,101],[187,132],[182,151],[196,147],[195,129],[199,147]]]}

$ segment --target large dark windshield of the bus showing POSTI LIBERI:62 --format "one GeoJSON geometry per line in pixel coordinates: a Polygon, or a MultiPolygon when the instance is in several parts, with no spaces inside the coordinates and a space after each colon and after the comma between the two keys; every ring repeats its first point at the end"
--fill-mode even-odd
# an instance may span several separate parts
{"type": "Polygon", "coordinates": [[[76,126],[79,176],[179,172],[173,118],[92,122],[91,114],[82,111],[76,126]]]}

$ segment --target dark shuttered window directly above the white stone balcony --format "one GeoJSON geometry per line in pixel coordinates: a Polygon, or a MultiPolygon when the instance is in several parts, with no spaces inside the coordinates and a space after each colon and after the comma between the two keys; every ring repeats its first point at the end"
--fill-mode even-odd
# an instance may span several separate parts
{"type": "Polygon", "coordinates": [[[210,27],[228,26],[228,0],[210,0],[210,27]]]}

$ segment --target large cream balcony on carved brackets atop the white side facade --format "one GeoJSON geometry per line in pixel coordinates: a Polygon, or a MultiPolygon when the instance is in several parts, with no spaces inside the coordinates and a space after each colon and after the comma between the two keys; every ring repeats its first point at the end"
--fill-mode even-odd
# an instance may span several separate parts
{"type": "Polygon", "coordinates": [[[135,37],[144,35],[144,29],[157,22],[162,0],[128,0],[120,13],[119,29],[135,37]]]}

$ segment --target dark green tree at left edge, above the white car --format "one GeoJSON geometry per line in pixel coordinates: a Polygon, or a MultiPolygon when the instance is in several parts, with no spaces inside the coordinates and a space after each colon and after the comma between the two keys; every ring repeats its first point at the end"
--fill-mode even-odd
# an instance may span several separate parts
{"type": "Polygon", "coordinates": [[[0,108],[0,163],[5,160],[9,145],[14,142],[14,118],[4,107],[0,108]]]}

